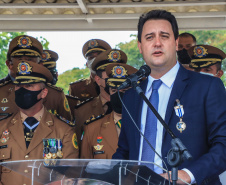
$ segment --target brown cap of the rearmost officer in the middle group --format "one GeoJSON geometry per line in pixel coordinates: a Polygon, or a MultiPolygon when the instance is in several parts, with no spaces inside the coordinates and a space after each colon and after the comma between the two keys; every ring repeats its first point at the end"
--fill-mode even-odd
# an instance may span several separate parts
{"type": "Polygon", "coordinates": [[[88,40],[82,48],[83,56],[86,58],[89,53],[92,52],[103,52],[108,49],[111,49],[111,46],[101,39],[91,39],[88,40]]]}

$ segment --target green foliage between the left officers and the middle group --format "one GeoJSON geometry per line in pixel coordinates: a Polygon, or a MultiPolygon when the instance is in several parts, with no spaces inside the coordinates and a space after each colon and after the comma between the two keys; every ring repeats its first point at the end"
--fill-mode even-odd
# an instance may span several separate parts
{"type": "Polygon", "coordinates": [[[90,71],[88,68],[79,69],[73,68],[72,70],[65,71],[58,77],[57,86],[63,88],[64,93],[68,94],[69,84],[75,82],[81,78],[88,78],[90,71]]]}

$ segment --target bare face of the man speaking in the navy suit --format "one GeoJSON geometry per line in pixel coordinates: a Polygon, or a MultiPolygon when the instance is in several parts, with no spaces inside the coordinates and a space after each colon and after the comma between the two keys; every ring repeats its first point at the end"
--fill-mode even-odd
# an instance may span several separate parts
{"type": "Polygon", "coordinates": [[[177,43],[168,21],[148,20],[143,26],[138,48],[152,70],[167,72],[176,64],[177,43]]]}

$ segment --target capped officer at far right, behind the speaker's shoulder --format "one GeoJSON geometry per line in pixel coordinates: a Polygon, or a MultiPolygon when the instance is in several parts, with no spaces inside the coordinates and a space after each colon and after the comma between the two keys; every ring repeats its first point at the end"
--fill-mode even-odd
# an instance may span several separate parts
{"type": "Polygon", "coordinates": [[[226,54],[219,48],[210,45],[197,45],[188,50],[191,57],[190,67],[196,72],[220,78],[224,71],[221,69],[222,60],[226,54]]]}

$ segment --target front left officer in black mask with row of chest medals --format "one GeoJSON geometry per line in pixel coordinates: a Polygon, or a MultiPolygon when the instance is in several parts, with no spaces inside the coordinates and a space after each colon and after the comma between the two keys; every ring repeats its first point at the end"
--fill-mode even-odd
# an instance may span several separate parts
{"type": "MultiPolygon", "coordinates": [[[[46,83],[52,81],[48,69],[40,64],[21,60],[13,65],[16,73],[15,102],[19,111],[5,117],[0,123],[0,160],[45,159],[44,165],[53,160],[78,158],[77,137],[66,120],[49,113],[43,106],[48,94],[46,83]]],[[[30,172],[27,166],[21,171],[30,172]]],[[[1,183],[31,184],[31,180],[5,167],[1,169],[1,183]]]]}

